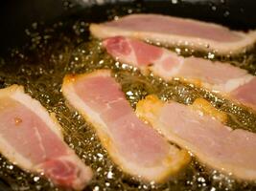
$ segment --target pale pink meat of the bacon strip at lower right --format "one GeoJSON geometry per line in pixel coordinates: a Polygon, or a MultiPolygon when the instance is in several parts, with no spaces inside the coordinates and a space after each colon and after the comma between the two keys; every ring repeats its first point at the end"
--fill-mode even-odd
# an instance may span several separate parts
{"type": "Polygon", "coordinates": [[[162,122],[169,132],[186,141],[186,147],[191,145],[192,152],[195,147],[195,155],[199,152],[199,155],[215,161],[216,164],[211,165],[216,165],[218,169],[224,168],[227,172],[240,173],[226,167],[231,165],[232,168],[253,171],[256,176],[254,133],[242,129],[232,130],[212,117],[201,116],[187,106],[175,102],[162,108],[159,122],[162,122]]]}

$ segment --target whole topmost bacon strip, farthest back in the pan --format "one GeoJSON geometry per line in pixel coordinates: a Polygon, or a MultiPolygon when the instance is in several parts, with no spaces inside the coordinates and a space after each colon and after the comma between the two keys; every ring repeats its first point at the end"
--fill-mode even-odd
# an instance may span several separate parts
{"type": "Polygon", "coordinates": [[[160,14],[131,14],[118,20],[91,24],[90,31],[98,38],[123,35],[217,53],[236,53],[256,41],[256,31],[235,32],[213,23],[160,14]]]}

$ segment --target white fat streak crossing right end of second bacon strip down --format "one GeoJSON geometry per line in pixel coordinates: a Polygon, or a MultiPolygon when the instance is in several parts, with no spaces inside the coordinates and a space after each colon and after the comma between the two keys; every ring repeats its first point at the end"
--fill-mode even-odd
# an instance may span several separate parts
{"type": "MultiPolygon", "coordinates": [[[[240,86],[243,86],[244,84],[248,83],[253,78],[254,78],[253,75],[245,74],[244,76],[241,76],[241,77],[229,79],[224,84],[212,85],[211,89],[213,89],[216,92],[222,92],[224,94],[228,94],[236,90],[240,86]]],[[[205,86],[209,87],[210,85],[205,84],[205,86]]]]}

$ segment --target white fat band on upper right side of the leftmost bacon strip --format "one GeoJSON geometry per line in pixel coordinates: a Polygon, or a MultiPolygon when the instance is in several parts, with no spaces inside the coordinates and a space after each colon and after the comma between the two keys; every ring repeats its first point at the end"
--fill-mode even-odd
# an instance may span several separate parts
{"type": "Polygon", "coordinates": [[[47,127],[57,134],[58,138],[63,138],[61,127],[58,124],[57,118],[52,118],[38,100],[25,94],[23,87],[17,88],[16,91],[12,93],[11,97],[30,109],[37,117],[41,118],[42,121],[46,123],[47,127]]]}

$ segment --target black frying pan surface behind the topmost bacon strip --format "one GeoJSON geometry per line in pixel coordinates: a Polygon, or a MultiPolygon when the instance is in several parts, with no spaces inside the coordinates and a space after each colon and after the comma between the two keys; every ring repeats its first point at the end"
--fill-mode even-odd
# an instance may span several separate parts
{"type": "MultiPolygon", "coordinates": [[[[70,17],[102,22],[106,20],[106,9],[132,4],[139,4],[144,12],[211,21],[235,30],[256,29],[256,1],[253,0],[2,0],[0,57],[29,40],[25,29],[33,23],[48,26],[70,17]]],[[[12,189],[0,180],[0,190],[12,189]]]]}

